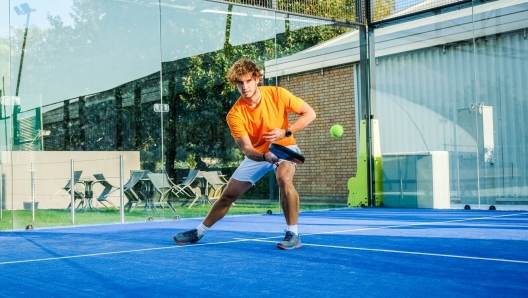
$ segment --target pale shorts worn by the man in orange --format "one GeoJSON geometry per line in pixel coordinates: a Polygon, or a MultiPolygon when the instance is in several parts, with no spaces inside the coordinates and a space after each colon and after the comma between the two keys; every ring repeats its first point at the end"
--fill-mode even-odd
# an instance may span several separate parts
{"type": "MultiPolygon", "coordinates": [[[[287,147],[301,154],[301,149],[299,149],[297,145],[290,145],[287,147]]],[[[280,164],[281,162],[289,161],[281,159],[277,164],[280,164]]],[[[295,163],[293,164],[295,165],[295,163]]],[[[242,161],[240,166],[238,166],[231,178],[238,181],[251,182],[252,185],[255,185],[255,183],[257,183],[260,178],[264,177],[267,172],[275,170],[276,168],[276,164],[272,164],[265,161],[254,161],[252,159],[244,157],[244,161],[242,161]]]]}

